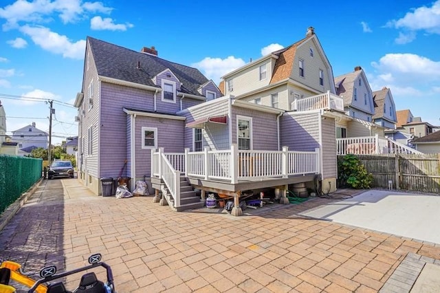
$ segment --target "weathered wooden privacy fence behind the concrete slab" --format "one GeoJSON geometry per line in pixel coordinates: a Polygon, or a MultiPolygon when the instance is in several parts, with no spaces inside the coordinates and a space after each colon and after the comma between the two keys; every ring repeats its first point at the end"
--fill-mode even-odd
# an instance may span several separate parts
{"type": "Polygon", "coordinates": [[[440,193],[440,154],[358,155],[373,174],[373,187],[440,193]]]}

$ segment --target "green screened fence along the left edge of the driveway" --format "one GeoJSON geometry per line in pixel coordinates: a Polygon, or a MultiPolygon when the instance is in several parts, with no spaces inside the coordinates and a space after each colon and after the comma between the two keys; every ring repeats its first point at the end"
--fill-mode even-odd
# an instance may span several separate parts
{"type": "Polygon", "coordinates": [[[0,155],[0,213],[41,178],[43,160],[0,155]]]}

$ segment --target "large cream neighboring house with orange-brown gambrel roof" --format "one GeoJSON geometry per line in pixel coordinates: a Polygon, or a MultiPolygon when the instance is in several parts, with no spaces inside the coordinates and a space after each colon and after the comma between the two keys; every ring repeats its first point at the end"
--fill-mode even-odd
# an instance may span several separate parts
{"type": "Polygon", "coordinates": [[[300,110],[298,100],[335,94],[333,70],[314,28],[305,39],[272,52],[222,77],[225,95],[278,109],[300,110]],[[298,108],[299,107],[299,108],[298,108]]]}

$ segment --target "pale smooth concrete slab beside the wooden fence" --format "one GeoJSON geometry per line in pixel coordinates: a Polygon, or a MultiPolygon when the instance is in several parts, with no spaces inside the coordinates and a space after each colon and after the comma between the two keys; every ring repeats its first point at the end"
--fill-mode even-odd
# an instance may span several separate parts
{"type": "Polygon", "coordinates": [[[371,190],[301,215],[440,243],[439,206],[440,196],[371,190]]]}

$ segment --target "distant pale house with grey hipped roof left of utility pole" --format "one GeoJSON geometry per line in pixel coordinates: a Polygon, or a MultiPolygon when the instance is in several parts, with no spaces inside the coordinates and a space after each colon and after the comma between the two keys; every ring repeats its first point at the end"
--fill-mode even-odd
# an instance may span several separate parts
{"type": "Polygon", "coordinates": [[[35,122],[28,126],[12,131],[12,142],[17,142],[19,149],[29,146],[47,149],[49,134],[35,127],[35,122]]]}

